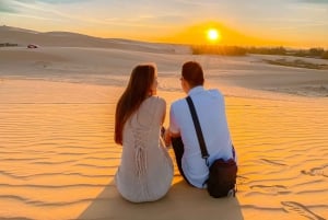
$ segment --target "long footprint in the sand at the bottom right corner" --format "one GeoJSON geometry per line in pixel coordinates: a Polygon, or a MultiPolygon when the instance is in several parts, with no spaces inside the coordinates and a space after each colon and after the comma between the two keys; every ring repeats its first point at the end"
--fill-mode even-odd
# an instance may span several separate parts
{"type": "Polygon", "coordinates": [[[312,220],[326,220],[296,201],[281,201],[281,205],[286,212],[295,212],[312,220]]]}

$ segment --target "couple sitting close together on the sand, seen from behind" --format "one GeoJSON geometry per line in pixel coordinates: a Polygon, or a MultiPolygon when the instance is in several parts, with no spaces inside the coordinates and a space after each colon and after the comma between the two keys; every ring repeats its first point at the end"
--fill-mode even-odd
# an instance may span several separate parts
{"type": "MultiPolygon", "coordinates": [[[[209,164],[219,158],[233,158],[223,95],[203,88],[203,71],[198,62],[184,63],[180,81],[194,101],[210,154],[209,164]]],[[[156,89],[155,66],[137,66],[116,106],[115,141],[122,146],[122,155],[115,182],[121,196],[133,202],[154,201],[168,192],[174,172],[165,146],[172,144],[184,180],[190,186],[207,187],[203,183],[209,167],[201,157],[186,99],[171,105],[169,126],[161,135],[166,102],[156,96],[156,89]]]]}

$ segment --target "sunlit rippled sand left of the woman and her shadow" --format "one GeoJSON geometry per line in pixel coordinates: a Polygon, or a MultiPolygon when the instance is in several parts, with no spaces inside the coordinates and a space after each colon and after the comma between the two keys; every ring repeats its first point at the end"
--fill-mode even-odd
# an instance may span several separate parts
{"type": "Polygon", "coordinates": [[[119,163],[116,91],[43,81],[3,81],[0,90],[0,219],[77,218],[119,163]]]}

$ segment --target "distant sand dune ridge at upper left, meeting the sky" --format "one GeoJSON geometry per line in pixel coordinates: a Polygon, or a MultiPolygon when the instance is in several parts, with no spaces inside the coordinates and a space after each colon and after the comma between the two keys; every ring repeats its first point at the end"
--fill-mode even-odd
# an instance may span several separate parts
{"type": "Polygon", "coordinates": [[[101,38],[70,32],[35,32],[10,26],[0,26],[0,42],[27,46],[36,44],[40,47],[97,47],[142,50],[153,53],[186,54],[190,48],[181,45],[144,43],[119,38],[101,38]]]}

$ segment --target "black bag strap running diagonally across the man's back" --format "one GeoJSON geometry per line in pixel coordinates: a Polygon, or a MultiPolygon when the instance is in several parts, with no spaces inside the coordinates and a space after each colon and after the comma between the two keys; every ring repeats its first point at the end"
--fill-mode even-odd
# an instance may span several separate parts
{"type": "Polygon", "coordinates": [[[186,100],[187,100],[187,103],[189,105],[189,109],[190,109],[191,117],[192,117],[192,120],[194,120],[198,142],[199,142],[199,147],[200,147],[200,151],[201,151],[201,157],[206,160],[207,165],[209,166],[208,158],[210,155],[208,153],[208,149],[207,149],[203,136],[202,136],[201,127],[200,127],[200,124],[199,124],[199,120],[198,120],[198,117],[197,117],[197,113],[196,113],[196,109],[195,109],[194,102],[192,102],[190,96],[187,96],[186,100]]]}

